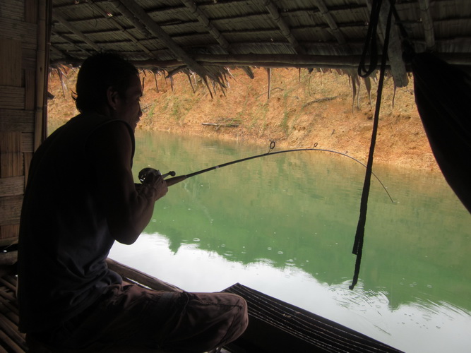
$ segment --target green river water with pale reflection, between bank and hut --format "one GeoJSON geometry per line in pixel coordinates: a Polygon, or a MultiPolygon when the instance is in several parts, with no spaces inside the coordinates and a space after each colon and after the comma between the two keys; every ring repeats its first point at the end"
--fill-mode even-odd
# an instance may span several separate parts
{"type": "MultiPolygon", "coordinates": [[[[190,174],[265,152],[138,132],[133,172],[190,174]]],[[[394,202],[372,179],[359,282],[348,288],[364,172],[342,155],[289,152],[191,177],[110,257],[191,292],[239,282],[405,352],[470,352],[471,216],[441,174],[374,169],[394,202]]]]}

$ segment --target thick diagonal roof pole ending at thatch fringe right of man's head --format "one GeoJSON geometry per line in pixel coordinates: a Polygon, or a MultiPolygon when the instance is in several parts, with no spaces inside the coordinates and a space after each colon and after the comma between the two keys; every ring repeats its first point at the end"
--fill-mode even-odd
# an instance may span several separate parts
{"type": "MultiPolygon", "coordinates": [[[[145,27],[149,30],[150,33],[155,35],[159,40],[161,40],[169,49],[170,51],[173,52],[175,56],[177,56],[177,59],[182,61],[186,66],[188,66],[192,71],[196,72],[199,76],[202,78],[205,78],[206,76],[210,77],[213,80],[217,80],[215,76],[213,76],[212,73],[210,73],[208,70],[203,68],[200,64],[198,64],[196,61],[191,59],[191,57],[186,54],[186,52],[179,47],[179,45],[172,40],[172,38],[167,35],[167,32],[162,30],[155,21],[150,18],[150,16],[145,13],[143,8],[141,6],[138,6],[134,0],[119,0],[119,1],[112,1],[113,4],[116,4],[117,2],[121,3],[124,7],[126,7],[133,16],[135,16],[138,20],[145,25],[145,27]]],[[[119,11],[122,10],[122,6],[119,6],[118,8],[119,11]]],[[[122,13],[122,12],[121,12],[122,13]]],[[[124,15],[124,13],[123,13],[124,15]]],[[[124,15],[126,16],[126,15],[124,15]]],[[[217,80],[219,82],[219,80],[217,80]]]]}

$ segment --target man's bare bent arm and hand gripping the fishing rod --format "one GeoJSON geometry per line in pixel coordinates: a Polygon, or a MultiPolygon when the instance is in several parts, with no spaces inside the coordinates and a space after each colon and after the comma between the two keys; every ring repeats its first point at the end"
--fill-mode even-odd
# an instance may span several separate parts
{"type": "Polygon", "coordinates": [[[158,177],[136,189],[130,165],[131,137],[124,124],[99,128],[90,137],[87,151],[112,237],[120,243],[133,244],[148,225],[155,201],[167,193],[167,184],[158,177]]]}

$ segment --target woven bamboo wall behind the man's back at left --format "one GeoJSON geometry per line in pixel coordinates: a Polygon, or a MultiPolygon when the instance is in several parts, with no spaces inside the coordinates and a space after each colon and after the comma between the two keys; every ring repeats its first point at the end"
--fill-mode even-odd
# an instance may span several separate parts
{"type": "Polygon", "coordinates": [[[0,246],[18,241],[28,167],[44,138],[50,8],[0,1],[0,246]]]}

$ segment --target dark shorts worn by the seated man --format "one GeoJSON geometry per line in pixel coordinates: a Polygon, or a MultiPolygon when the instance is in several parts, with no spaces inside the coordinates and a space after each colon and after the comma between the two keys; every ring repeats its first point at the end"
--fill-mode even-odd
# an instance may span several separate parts
{"type": "Polygon", "coordinates": [[[242,335],[246,301],[229,293],[159,292],[112,285],[89,309],[45,337],[60,349],[148,347],[205,352],[242,335]]]}

